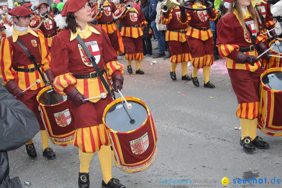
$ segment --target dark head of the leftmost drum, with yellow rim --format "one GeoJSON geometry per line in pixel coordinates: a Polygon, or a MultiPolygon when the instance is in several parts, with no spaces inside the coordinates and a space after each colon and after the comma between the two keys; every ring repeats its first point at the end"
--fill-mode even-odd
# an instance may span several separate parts
{"type": "Polygon", "coordinates": [[[46,89],[39,97],[38,102],[43,105],[56,105],[67,99],[67,96],[59,95],[54,89],[46,89]]]}

